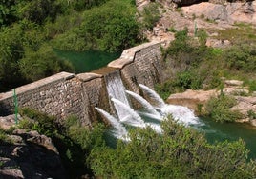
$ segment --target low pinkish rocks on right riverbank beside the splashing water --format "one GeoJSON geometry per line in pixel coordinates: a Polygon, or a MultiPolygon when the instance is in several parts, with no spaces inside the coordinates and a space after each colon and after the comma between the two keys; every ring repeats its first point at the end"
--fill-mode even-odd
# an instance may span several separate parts
{"type": "MultiPolygon", "coordinates": [[[[256,113],[256,93],[249,93],[248,89],[243,86],[242,81],[237,80],[225,80],[224,81],[224,95],[233,96],[237,104],[232,110],[238,110],[243,114],[242,119],[238,119],[238,122],[246,122],[253,126],[256,126],[256,119],[251,115],[256,113]]],[[[192,90],[188,89],[182,93],[171,94],[167,103],[181,105],[194,109],[197,114],[205,112],[205,106],[211,97],[216,97],[221,93],[220,89],[212,90],[192,90]]]]}

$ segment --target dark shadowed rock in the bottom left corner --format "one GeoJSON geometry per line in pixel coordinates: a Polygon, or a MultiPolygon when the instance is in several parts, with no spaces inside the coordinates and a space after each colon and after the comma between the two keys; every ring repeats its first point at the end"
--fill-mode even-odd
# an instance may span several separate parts
{"type": "Polygon", "coordinates": [[[0,143],[0,178],[66,178],[51,138],[15,129],[0,143]]]}

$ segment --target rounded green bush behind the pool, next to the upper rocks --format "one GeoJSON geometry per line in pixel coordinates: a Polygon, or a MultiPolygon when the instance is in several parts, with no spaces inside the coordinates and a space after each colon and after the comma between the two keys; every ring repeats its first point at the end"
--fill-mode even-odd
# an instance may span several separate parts
{"type": "Polygon", "coordinates": [[[62,50],[117,51],[139,42],[136,8],[130,1],[112,0],[81,14],[81,23],[54,41],[62,50]],[[115,7],[115,8],[113,8],[115,7]]]}

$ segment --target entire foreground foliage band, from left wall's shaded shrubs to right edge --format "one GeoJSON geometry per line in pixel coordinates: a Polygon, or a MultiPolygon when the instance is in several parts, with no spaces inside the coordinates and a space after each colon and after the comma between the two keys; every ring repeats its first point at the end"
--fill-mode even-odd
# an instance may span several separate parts
{"type": "Polygon", "coordinates": [[[82,127],[75,116],[59,129],[53,118],[23,109],[23,129],[37,129],[51,136],[70,177],[91,174],[102,178],[254,178],[255,161],[247,161],[242,140],[209,144],[203,134],[178,124],[171,117],[162,122],[163,132],[132,129],[129,142],[110,147],[104,128],[82,127]],[[38,120],[37,120],[38,119],[38,120]],[[36,128],[35,128],[36,127],[36,128]]]}

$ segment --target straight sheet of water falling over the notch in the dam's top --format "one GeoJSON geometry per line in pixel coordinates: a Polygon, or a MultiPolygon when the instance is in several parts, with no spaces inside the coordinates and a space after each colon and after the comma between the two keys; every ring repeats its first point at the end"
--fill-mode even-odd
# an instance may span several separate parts
{"type": "MultiPolygon", "coordinates": [[[[119,70],[109,73],[105,76],[105,81],[107,85],[107,91],[110,98],[115,98],[124,103],[125,105],[129,106],[128,99],[125,95],[125,89],[120,77],[119,70]]],[[[124,118],[123,115],[125,111],[123,108],[120,108],[117,104],[114,103],[115,109],[117,110],[118,118],[124,118]]]]}

